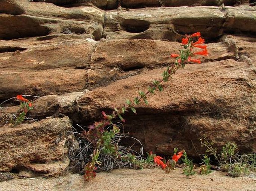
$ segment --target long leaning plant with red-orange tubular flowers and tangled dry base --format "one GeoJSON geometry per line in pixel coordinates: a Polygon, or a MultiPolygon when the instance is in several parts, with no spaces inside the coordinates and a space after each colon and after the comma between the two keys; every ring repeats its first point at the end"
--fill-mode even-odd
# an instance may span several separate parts
{"type": "MultiPolygon", "coordinates": [[[[120,146],[120,140],[129,137],[129,134],[120,133],[120,125],[114,124],[112,121],[119,119],[122,122],[126,122],[122,115],[129,110],[137,114],[135,106],[142,102],[148,104],[148,96],[155,94],[157,90],[163,91],[163,83],[167,82],[178,69],[184,68],[187,63],[191,62],[200,64],[200,59],[192,58],[194,55],[208,55],[207,46],[204,45],[204,39],[201,38],[200,32],[185,35],[185,38],[182,38],[182,48],[179,50],[179,54],[171,54],[171,57],[176,58],[176,60],[163,71],[162,79],[153,80],[146,92],[139,91],[138,96],[135,98],[126,99],[124,106],[119,109],[114,108],[111,114],[102,111],[101,121],[94,122],[88,126],[88,130],[78,133],[80,136],[77,138],[77,143],[70,150],[70,159],[75,165],[81,166],[85,170],[86,180],[95,177],[93,172],[96,168],[103,171],[110,171],[113,168],[123,166],[141,168],[143,163],[152,162],[151,160],[166,169],[168,163],[165,164],[160,156],[150,153],[147,159],[142,159],[143,147],[139,140],[133,138],[141,144],[140,153],[130,147],[120,146]],[[194,51],[195,48],[199,50],[194,51]],[[79,147],[78,149],[77,146],[79,147]],[[97,153],[97,155],[92,153],[97,153]],[[94,160],[92,160],[93,157],[94,160]]],[[[183,151],[179,152],[178,155],[176,155],[176,152],[173,155],[173,159],[169,160],[168,169],[174,168],[175,163],[183,155],[183,151]]]]}

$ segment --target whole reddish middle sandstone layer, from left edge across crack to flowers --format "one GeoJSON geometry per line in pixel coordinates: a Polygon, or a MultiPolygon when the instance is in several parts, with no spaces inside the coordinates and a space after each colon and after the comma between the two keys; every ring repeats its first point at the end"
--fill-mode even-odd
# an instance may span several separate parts
{"type": "MultiPolygon", "coordinates": [[[[4,83],[0,83],[0,100],[17,94],[44,96],[106,86],[142,71],[168,66],[170,54],[177,53],[179,45],[145,39],[95,42],[81,35],[64,38],[58,34],[1,41],[0,80],[4,83]],[[17,50],[20,52],[15,53],[17,50]]],[[[220,42],[209,44],[210,57],[202,61],[233,58],[235,53],[227,47],[220,42]]]]}

